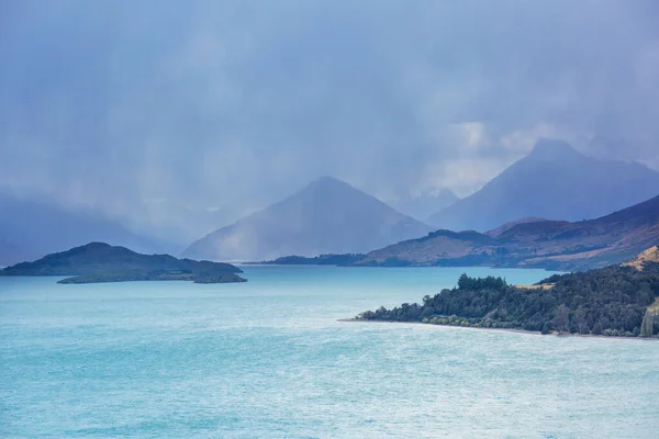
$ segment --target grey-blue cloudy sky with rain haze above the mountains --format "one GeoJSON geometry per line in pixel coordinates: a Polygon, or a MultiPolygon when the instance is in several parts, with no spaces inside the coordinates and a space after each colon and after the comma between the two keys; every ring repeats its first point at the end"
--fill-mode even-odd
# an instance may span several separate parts
{"type": "Polygon", "coordinates": [[[659,169],[658,21],[654,0],[0,0],[0,190],[221,226],[321,176],[463,196],[539,137],[659,169]]]}

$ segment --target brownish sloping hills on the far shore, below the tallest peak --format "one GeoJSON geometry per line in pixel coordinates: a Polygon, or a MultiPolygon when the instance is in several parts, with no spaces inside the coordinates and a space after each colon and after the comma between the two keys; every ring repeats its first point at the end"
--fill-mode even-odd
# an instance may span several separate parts
{"type": "Polygon", "coordinates": [[[437,230],[371,251],[358,266],[502,266],[582,270],[659,244],[659,196],[590,221],[521,222],[494,235],[437,230]]]}

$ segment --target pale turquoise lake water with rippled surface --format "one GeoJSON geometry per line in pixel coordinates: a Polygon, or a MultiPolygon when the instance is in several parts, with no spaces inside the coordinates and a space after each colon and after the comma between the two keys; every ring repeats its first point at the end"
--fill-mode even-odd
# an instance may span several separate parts
{"type": "Polygon", "coordinates": [[[245,271],[225,285],[0,278],[0,437],[659,437],[659,342],[337,322],[462,271],[547,272],[245,271]]]}

